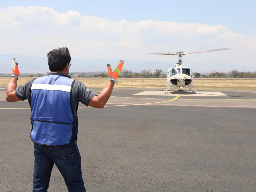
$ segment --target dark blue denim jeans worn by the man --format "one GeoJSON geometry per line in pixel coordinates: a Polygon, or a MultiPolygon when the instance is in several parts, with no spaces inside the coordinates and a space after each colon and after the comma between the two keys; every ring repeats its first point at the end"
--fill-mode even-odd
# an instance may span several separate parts
{"type": "Polygon", "coordinates": [[[65,146],[44,146],[34,143],[35,169],[33,192],[47,192],[53,164],[57,166],[68,191],[85,192],[81,156],[76,142],[65,146]]]}

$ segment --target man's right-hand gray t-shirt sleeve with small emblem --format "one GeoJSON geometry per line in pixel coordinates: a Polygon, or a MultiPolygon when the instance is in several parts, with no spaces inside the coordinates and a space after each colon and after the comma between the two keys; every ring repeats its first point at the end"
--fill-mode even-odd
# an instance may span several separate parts
{"type": "Polygon", "coordinates": [[[92,98],[96,95],[96,93],[92,92],[80,81],[75,81],[75,83],[73,84],[72,97],[75,96],[78,102],[83,103],[87,107],[92,98]]]}

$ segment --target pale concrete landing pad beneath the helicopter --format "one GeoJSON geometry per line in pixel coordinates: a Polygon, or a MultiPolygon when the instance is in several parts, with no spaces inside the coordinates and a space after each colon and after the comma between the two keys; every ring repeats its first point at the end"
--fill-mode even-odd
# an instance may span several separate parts
{"type": "Polygon", "coordinates": [[[178,95],[182,95],[182,96],[204,96],[204,97],[228,97],[228,95],[219,92],[219,91],[214,91],[214,92],[208,92],[208,91],[202,91],[202,92],[197,92],[192,93],[192,92],[168,92],[167,94],[165,94],[163,91],[143,91],[143,92],[139,92],[136,93],[134,95],[156,95],[156,96],[178,96],[178,95]]]}

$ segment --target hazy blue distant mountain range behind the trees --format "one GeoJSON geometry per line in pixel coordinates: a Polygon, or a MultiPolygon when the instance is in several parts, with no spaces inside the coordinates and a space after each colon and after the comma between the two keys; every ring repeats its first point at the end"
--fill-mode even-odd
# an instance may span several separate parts
{"type": "MultiPolygon", "coordinates": [[[[3,54],[0,55],[0,73],[11,73],[12,59],[16,57],[19,63],[20,73],[45,73],[49,72],[47,58],[38,58],[27,55],[3,54]]],[[[107,64],[111,64],[114,68],[118,64],[118,59],[71,59],[70,72],[89,72],[89,71],[107,71],[107,64]]],[[[233,69],[238,71],[256,71],[256,65],[236,65],[231,63],[197,63],[183,62],[185,67],[190,67],[198,73],[210,73],[212,71],[229,72],[233,69]]],[[[141,72],[143,69],[151,69],[154,72],[156,69],[162,69],[167,73],[168,68],[174,67],[175,62],[161,62],[149,60],[124,60],[124,67],[133,72],[141,72]]]]}

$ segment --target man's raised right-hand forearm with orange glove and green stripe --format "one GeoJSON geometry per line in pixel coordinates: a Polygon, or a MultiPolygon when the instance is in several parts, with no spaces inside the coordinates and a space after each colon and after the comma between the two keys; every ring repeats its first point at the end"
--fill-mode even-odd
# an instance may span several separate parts
{"type": "Polygon", "coordinates": [[[118,83],[116,79],[120,76],[123,69],[123,65],[124,65],[124,60],[120,60],[119,64],[112,71],[110,64],[107,64],[109,81],[106,84],[106,86],[103,88],[103,90],[100,92],[100,94],[92,98],[92,100],[89,103],[90,107],[104,108],[113,91],[114,84],[118,83]]]}

